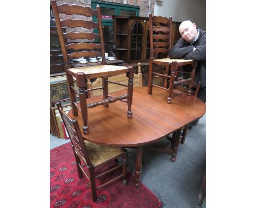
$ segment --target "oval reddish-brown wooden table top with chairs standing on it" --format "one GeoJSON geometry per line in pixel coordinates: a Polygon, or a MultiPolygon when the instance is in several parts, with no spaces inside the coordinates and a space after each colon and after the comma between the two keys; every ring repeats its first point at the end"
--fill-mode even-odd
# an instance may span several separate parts
{"type": "MultiPolygon", "coordinates": [[[[126,90],[111,93],[118,96],[126,90]]],[[[206,112],[205,103],[197,97],[173,90],[172,103],[166,103],[167,91],[153,89],[147,94],[147,87],[133,88],[132,118],[127,118],[127,103],[110,103],[108,108],[97,106],[88,109],[89,134],[83,134],[86,140],[98,144],[114,146],[139,146],[154,142],[188,125],[206,112]]],[[[102,96],[91,97],[87,103],[100,101],[102,96]]],[[[79,112],[74,117],[82,131],[83,120],[79,112]]]]}

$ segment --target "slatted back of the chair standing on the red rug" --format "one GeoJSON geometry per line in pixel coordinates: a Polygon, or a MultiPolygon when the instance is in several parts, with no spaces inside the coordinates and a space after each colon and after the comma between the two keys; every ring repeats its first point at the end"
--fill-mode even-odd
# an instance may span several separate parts
{"type": "Polygon", "coordinates": [[[58,102],[56,105],[59,109],[62,121],[66,127],[75,153],[81,160],[86,161],[87,166],[91,166],[90,157],[86,149],[82,133],[79,129],[78,121],[76,119],[71,120],[67,116],[67,114],[63,111],[61,103],[58,102]]]}

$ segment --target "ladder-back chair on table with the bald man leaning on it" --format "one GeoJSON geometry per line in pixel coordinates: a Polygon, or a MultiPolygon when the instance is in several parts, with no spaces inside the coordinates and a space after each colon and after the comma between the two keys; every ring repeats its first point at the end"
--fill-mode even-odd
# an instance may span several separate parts
{"type": "Polygon", "coordinates": [[[171,34],[171,16],[166,18],[162,16],[152,16],[151,13],[149,14],[150,59],[148,94],[152,94],[153,86],[167,90],[167,103],[171,103],[173,89],[185,91],[188,95],[195,93],[195,90],[192,89],[193,87],[199,90],[199,86],[194,82],[196,62],[194,60],[167,58],[168,52],[171,50],[171,34]],[[178,67],[188,64],[192,64],[193,66],[190,78],[178,78],[178,67]],[[165,74],[154,72],[155,65],[165,66],[165,74]],[[153,83],[153,79],[157,77],[164,77],[164,87],[153,83]],[[188,87],[186,87],[186,85],[188,85],[188,87]]]}

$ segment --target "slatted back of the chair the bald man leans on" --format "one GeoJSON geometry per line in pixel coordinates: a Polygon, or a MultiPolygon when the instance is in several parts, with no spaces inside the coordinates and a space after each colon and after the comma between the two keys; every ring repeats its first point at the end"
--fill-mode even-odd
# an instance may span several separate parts
{"type": "Polygon", "coordinates": [[[171,50],[172,17],[149,14],[150,57],[167,58],[171,50]]]}

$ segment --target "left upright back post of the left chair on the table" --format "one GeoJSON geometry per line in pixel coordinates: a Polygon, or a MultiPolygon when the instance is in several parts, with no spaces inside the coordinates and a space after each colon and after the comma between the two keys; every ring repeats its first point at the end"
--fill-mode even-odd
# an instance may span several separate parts
{"type": "Polygon", "coordinates": [[[60,16],[59,16],[59,11],[58,11],[58,6],[55,0],[51,1],[51,5],[53,8],[53,13],[54,13],[54,17],[55,17],[55,22],[56,22],[56,27],[57,27],[57,33],[59,35],[59,40],[60,40],[60,45],[61,45],[61,50],[62,50],[62,54],[63,54],[63,61],[65,64],[69,64],[69,60],[67,57],[67,50],[66,50],[66,41],[65,38],[63,36],[62,33],[62,28],[61,28],[61,23],[60,23],[60,16]]]}

